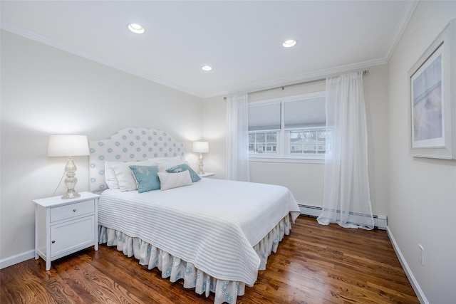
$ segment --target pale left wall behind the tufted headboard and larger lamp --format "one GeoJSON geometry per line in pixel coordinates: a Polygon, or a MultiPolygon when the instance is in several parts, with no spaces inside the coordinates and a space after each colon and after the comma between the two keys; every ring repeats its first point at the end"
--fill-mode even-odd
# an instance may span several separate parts
{"type": "MultiPolygon", "coordinates": [[[[46,156],[48,136],[98,140],[130,126],[166,130],[189,151],[202,137],[202,100],[1,31],[1,266],[33,252],[31,200],[53,195],[63,174],[66,159],[46,156]]],[[[76,190],[87,191],[88,157],[75,161],[76,190]]]]}

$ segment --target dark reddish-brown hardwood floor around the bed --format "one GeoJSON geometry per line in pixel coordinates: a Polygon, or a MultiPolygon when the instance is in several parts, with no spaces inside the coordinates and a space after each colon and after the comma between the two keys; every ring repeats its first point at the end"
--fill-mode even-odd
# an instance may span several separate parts
{"type": "MultiPolygon", "coordinates": [[[[299,216],[237,303],[419,303],[386,231],[321,226],[299,216]]],[[[213,303],[105,245],[4,268],[0,303],[213,303]]]]}

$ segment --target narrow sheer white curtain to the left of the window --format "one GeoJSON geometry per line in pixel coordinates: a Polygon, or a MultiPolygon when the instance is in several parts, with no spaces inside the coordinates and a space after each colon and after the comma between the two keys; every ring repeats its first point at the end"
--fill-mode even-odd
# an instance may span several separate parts
{"type": "Polygon", "coordinates": [[[227,98],[227,179],[249,182],[247,94],[227,98]]]}

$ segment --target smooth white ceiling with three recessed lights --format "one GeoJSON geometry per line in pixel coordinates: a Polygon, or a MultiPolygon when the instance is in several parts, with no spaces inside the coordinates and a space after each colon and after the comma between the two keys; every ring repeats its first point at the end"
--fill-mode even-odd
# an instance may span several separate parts
{"type": "Polygon", "coordinates": [[[208,98],[384,64],[416,4],[2,0],[1,28],[208,98]]]}

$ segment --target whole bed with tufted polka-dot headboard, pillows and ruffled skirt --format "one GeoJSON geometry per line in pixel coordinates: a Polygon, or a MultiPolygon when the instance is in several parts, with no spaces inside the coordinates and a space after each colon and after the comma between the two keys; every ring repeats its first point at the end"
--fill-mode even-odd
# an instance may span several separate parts
{"type": "Polygon", "coordinates": [[[216,304],[254,285],[301,213],[285,187],[201,179],[162,130],[128,127],[89,147],[100,243],[216,304]]]}

